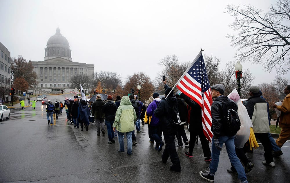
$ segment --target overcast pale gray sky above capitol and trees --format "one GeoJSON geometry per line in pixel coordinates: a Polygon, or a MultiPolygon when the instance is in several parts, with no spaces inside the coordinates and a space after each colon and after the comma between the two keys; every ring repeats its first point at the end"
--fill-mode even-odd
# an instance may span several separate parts
{"type": "MultiPolygon", "coordinates": [[[[235,60],[226,35],[233,17],[228,3],[249,4],[268,11],[270,0],[224,1],[60,1],[0,0],[0,42],[11,57],[44,60],[44,48],[59,26],[72,50],[73,62],[94,64],[94,71],[121,73],[123,80],[144,72],[151,80],[161,71],[158,61],[175,54],[192,61],[200,51],[235,60]]],[[[272,82],[277,74],[261,65],[242,62],[255,76],[254,84],[272,82]]],[[[284,75],[290,78],[290,73],[284,75]]]]}

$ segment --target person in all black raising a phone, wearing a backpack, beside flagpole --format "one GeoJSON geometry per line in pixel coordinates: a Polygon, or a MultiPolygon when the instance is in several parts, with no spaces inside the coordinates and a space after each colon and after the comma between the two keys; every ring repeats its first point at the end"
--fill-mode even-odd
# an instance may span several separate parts
{"type": "MultiPolygon", "coordinates": [[[[174,136],[177,130],[177,124],[174,122],[174,108],[177,110],[178,104],[176,97],[173,95],[173,91],[171,91],[172,88],[166,84],[166,79],[165,81],[162,80],[162,82],[164,83],[165,97],[167,96],[167,98],[161,100],[154,111],[154,115],[159,118],[159,123],[166,144],[161,158],[162,162],[166,163],[167,159],[170,157],[171,162],[173,163],[170,170],[180,172],[180,160],[177,155],[174,142],[174,136]]],[[[163,145],[164,142],[160,144],[159,149],[162,149],[163,145]]]]}

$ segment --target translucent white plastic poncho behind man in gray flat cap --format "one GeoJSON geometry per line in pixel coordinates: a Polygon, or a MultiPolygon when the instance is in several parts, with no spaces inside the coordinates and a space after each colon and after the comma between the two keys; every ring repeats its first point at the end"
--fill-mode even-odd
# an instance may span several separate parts
{"type": "Polygon", "coordinates": [[[228,98],[232,99],[238,105],[238,115],[241,121],[240,130],[235,135],[235,147],[242,148],[244,144],[249,140],[250,128],[253,127],[252,121],[248,115],[246,107],[242,104],[241,98],[236,89],[228,95],[228,98]]]}

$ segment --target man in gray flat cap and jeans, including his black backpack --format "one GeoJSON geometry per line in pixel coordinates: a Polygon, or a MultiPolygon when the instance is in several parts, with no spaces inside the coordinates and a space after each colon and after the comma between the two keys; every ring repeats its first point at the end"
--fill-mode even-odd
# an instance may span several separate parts
{"type": "Polygon", "coordinates": [[[211,146],[212,160],[209,165],[209,173],[200,171],[200,176],[210,182],[214,181],[214,176],[218,168],[222,145],[225,144],[230,162],[235,167],[238,173],[238,178],[241,180],[242,183],[245,183],[248,182],[247,176],[244,171],[244,167],[242,166],[240,160],[235,153],[234,139],[235,134],[238,132],[238,130],[234,128],[234,123],[239,123],[237,124],[237,126],[240,127],[240,120],[238,118],[237,112],[238,106],[234,101],[223,95],[224,89],[224,85],[222,84],[216,84],[211,86],[211,96],[212,98],[215,98],[215,101],[211,105],[211,131],[213,132],[211,146]],[[227,110],[228,114],[230,114],[229,116],[224,115],[225,109],[227,110]],[[231,111],[233,113],[231,113],[231,111]],[[231,127],[231,125],[234,126],[231,127]]]}

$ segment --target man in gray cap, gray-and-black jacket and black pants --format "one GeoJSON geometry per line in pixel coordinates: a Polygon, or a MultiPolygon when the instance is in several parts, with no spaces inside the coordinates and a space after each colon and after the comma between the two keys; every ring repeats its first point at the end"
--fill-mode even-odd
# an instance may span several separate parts
{"type": "Polygon", "coordinates": [[[275,163],[273,160],[272,145],[268,137],[268,133],[270,132],[268,106],[267,102],[260,97],[259,90],[257,86],[251,86],[249,88],[250,98],[248,98],[245,106],[253,123],[255,137],[258,138],[264,146],[265,161],[262,163],[274,167],[275,163]]]}

